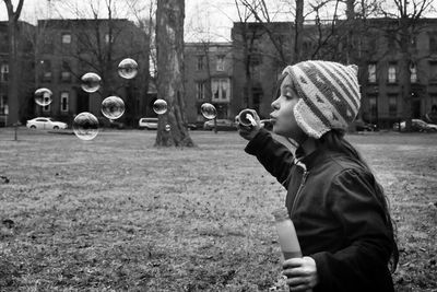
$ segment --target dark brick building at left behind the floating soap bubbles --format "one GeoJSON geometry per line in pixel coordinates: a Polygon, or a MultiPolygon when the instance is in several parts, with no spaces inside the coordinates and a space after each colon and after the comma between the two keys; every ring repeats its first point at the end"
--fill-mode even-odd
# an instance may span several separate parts
{"type": "Polygon", "coordinates": [[[120,120],[137,125],[150,104],[146,101],[149,44],[144,31],[125,19],[40,20],[37,27],[35,87],[47,87],[54,93],[50,105],[35,105],[37,115],[69,125],[82,112],[103,117],[102,101],[117,95],[126,105],[120,120]],[[122,79],[117,73],[118,63],[125,58],[138,63],[134,79],[122,79]],[[86,72],[102,78],[97,92],[81,89],[81,77],[86,72]]]}

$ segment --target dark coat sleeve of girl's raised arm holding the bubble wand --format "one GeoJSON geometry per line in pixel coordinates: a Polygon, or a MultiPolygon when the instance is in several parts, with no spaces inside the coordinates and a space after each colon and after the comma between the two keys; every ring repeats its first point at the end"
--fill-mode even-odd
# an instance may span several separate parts
{"type": "Polygon", "coordinates": [[[264,168],[280,182],[287,186],[287,178],[293,166],[294,155],[284,144],[274,140],[269,131],[260,129],[249,141],[245,151],[255,155],[264,168]]]}

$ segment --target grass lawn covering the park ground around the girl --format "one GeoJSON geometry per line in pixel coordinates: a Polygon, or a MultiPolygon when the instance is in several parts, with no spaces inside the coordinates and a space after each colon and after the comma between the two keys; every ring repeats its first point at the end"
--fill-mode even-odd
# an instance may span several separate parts
{"type": "MultiPolygon", "coordinates": [[[[236,132],[0,129],[0,291],[268,291],[285,189],[236,132]]],[[[437,291],[437,135],[351,135],[398,224],[397,291],[437,291]]]]}

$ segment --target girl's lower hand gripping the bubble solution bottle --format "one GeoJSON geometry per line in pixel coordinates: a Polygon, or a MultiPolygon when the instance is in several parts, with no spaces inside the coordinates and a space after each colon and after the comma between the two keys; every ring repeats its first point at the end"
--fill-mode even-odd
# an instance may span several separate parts
{"type": "Polygon", "coordinates": [[[282,264],[290,291],[307,291],[318,283],[316,261],[311,257],[291,258],[282,264]]]}

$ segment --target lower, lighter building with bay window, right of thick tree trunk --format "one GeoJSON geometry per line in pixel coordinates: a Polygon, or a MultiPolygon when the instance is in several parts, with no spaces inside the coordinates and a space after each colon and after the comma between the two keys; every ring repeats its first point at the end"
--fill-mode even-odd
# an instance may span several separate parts
{"type": "Polygon", "coordinates": [[[200,107],[211,103],[217,118],[234,119],[232,43],[185,44],[185,95],[188,122],[202,124],[200,107]]]}

